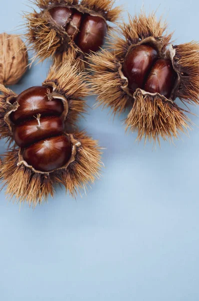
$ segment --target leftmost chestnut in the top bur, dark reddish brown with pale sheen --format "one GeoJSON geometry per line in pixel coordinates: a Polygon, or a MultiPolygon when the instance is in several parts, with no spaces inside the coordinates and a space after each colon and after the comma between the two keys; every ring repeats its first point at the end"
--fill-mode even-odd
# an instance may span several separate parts
{"type": "Polygon", "coordinates": [[[72,15],[72,11],[66,7],[55,7],[50,9],[48,12],[54,22],[63,28],[65,28],[68,19],[72,15]]]}

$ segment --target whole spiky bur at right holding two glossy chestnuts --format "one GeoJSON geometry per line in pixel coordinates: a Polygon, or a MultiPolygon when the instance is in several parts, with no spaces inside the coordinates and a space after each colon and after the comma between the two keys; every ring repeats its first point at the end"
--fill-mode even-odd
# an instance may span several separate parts
{"type": "MultiPolygon", "coordinates": [[[[114,113],[130,109],[126,129],[159,142],[186,132],[190,120],[175,99],[199,103],[199,44],[170,45],[172,34],[154,14],[141,12],[120,26],[111,51],[90,55],[98,104],[114,113]]],[[[109,50],[110,50],[109,49],[109,50]]]]}

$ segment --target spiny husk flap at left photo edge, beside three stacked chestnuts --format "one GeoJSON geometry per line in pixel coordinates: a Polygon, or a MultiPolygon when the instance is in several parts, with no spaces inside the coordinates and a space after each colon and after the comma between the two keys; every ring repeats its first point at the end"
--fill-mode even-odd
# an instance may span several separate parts
{"type": "Polygon", "coordinates": [[[5,88],[3,85],[0,84],[0,139],[6,138],[8,142],[12,142],[12,133],[7,126],[7,123],[4,121],[4,115],[10,108],[10,105],[6,102],[8,97],[15,97],[16,94],[8,88],[5,88]]]}

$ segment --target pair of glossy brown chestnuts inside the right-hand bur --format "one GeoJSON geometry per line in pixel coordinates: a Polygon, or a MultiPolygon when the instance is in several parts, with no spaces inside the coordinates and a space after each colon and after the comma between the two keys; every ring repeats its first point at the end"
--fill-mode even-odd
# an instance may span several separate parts
{"type": "Polygon", "coordinates": [[[177,78],[169,59],[159,58],[154,46],[142,44],[132,47],[125,56],[122,71],[128,88],[159,93],[169,98],[177,78]]]}

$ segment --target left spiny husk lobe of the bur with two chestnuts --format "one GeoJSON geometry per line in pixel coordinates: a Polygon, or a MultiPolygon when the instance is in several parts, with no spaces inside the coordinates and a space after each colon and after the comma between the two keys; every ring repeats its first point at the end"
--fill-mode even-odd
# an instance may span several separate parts
{"type": "Polygon", "coordinates": [[[89,57],[89,66],[94,72],[90,76],[90,86],[97,94],[97,105],[109,107],[115,113],[121,113],[132,103],[121,86],[125,79],[121,79],[118,69],[119,62],[116,61],[114,53],[102,50],[101,53],[89,57]]]}

